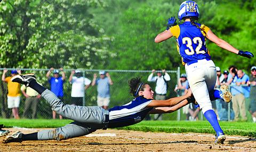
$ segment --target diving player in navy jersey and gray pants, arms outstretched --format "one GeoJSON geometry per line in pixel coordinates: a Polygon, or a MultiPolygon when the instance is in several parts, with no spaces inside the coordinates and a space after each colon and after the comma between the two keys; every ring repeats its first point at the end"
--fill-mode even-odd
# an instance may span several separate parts
{"type": "Polygon", "coordinates": [[[53,94],[36,82],[34,74],[17,75],[12,82],[18,82],[33,88],[50,104],[57,114],[74,120],[70,124],[54,130],[42,130],[35,133],[22,134],[14,132],[6,136],[3,143],[21,142],[26,140],[63,140],[84,136],[97,129],[118,128],[142,121],[148,113],[172,113],[188,103],[195,102],[189,89],[186,95],[167,100],[154,100],[154,91],[139,78],[129,81],[130,93],[135,97],[130,103],[105,110],[99,106],[66,105],[53,94]],[[189,100],[189,102],[188,102],[189,100]]]}

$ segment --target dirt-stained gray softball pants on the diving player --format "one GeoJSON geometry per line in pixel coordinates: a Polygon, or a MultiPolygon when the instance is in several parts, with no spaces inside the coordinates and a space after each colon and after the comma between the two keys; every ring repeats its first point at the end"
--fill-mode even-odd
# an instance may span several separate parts
{"type": "Polygon", "coordinates": [[[39,131],[38,140],[63,140],[85,136],[97,129],[107,129],[109,112],[102,107],[67,105],[48,89],[42,93],[42,97],[51,105],[53,111],[74,122],[54,130],[39,131]]]}

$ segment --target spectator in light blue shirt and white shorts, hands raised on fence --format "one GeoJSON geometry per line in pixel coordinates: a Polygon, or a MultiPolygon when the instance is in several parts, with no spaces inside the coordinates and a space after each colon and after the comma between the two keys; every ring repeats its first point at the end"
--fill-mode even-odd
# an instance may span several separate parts
{"type": "Polygon", "coordinates": [[[99,71],[100,78],[97,79],[97,74],[94,73],[93,80],[92,80],[92,86],[95,84],[97,85],[97,104],[99,107],[102,107],[104,109],[108,109],[109,103],[110,103],[110,86],[113,85],[113,82],[110,78],[110,74],[105,71],[99,71]],[[105,77],[106,74],[106,77],[105,77]]]}

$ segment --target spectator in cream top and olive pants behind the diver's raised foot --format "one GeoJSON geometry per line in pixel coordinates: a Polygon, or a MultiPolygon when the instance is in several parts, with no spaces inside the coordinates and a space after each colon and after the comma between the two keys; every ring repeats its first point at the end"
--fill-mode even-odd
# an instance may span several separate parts
{"type": "Polygon", "coordinates": [[[39,95],[38,92],[35,91],[34,89],[30,87],[26,87],[25,85],[22,85],[20,90],[22,94],[26,97],[24,112],[22,117],[29,118],[28,113],[29,113],[29,108],[31,108],[32,110],[31,119],[36,119],[37,105],[38,105],[39,99],[41,98],[41,95],[39,95]]]}

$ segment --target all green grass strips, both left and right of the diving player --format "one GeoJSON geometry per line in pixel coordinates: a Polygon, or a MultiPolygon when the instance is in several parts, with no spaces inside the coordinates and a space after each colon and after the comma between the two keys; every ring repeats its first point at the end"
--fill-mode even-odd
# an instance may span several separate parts
{"type": "MultiPolygon", "coordinates": [[[[0,119],[0,123],[7,128],[18,126],[21,128],[57,128],[72,122],[71,120],[14,120],[0,119]]],[[[256,137],[256,124],[252,122],[220,122],[222,130],[227,135],[256,137]]],[[[142,121],[138,124],[118,128],[122,130],[150,131],[150,132],[175,132],[175,133],[215,133],[207,121],[142,121]]]]}

